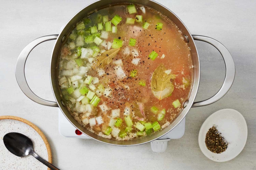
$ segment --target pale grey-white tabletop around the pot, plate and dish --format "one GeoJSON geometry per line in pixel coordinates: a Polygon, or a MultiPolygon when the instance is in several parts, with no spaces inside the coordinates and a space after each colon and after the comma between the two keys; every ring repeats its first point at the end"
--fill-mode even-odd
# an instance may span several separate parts
{"type": "MultiPolygon", "coordinates": [[[[158,0],[178,15],[192,34],[223,43],[236,64],[236,78],[226,96],[212,105],[192,108],[186,117],[184,136],[171,140],[164,153],[152,152],[150,144],[118,147],[91,139],[62,137],[58,131],[57,108],[28,99],[16,82],[14,70],[20,51],[38,37],[58,34],[73,14],[91,2],[0,2],[0,115],[20,116],[36,124],[48,138],[53,163],[60,169],[256,169],[256,1],[158,0]],[[248,139],[235,159],[218,163],[203,155],[197,138],[204,120],[223,108],[236,109],[244,116],[248,139]]],[[[49,78],[53,44],[54,41],[48,41],[37,46],[28,57],[25,69],[31,89],[48,100],[54,100],[49,78]]],[[[196,100],[202,100],[220,88],[225,65],[215,48],[203,42],[196,45],[202,70],[196,100]]]]}

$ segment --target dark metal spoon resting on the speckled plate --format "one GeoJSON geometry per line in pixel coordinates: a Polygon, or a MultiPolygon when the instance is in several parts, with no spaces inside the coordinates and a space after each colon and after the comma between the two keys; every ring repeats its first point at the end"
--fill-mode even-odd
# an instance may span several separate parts
{"type": "Polygon", "coordinates": [[[34,151],[33,151],[33,143],[31,139],[29,139],[27,136],[11,132],[4,135],[4,145],[8,149],[8,151],[12,152],[12,154],[24,157],[28,155],[32,155],[37,160],[42,162],[44,165],[48,166],[52,170],[60,170],[53,166],[51,163],[47,162],[43,158],[39,157],[34,151]]]}

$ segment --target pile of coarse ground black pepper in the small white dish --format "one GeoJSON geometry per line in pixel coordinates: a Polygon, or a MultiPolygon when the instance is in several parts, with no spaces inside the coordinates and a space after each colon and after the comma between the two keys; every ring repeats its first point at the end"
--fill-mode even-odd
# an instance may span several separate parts
{"type": "Polygon", "coordinates": [[[221,153],[228,148],[228,142],[221,136],[215,125],[206,133],[205,144],[207,149],[213,153],[221,153]]]}

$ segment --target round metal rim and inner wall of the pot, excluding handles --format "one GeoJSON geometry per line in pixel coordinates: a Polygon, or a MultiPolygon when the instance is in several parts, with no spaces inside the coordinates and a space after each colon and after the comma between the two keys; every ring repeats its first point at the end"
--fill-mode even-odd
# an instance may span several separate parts
{"type": "MultiPolygon", "coordinates": [[[[192,106],[192,104],[196,98],[196,93],[198,90],[199,79],[200,79],[200,63],[199,63],[199,57],[197,54],[195,42],[194,42],[191,34],[189,33],[188,29],[181,22],[181,20],[174,13],[172,13],[172,11],[170,11],[163,5],[158,4],[151,0],[144,0],[144,1],[135,1],[135,0],[105,1],[105,0],[100,0],[100,1],[96,1],[92,4],[89,4],[88,6],[84,7],[82,10],[77,12],[68,21],[68,23],[65,25],[65,27],[61,31],[58,39],[56,40],[56,43],[55,43],[55,46],[54,46],[54,49],[52,52],[50,75],[51,75],[52,90],[53,90],[55,99],[56,99],[60,109],[62,110],[63,114],[67,117],[69,122],[71,122],[77,129],[79,129],[81,132],[83,132],[87,136],[92,137],[93,139],[96,139],[103,143],[114,144],[114,145],[137,145],[137,144],[144,144],[144,143],[150,142],[152,140],[155,140],[155,139],[165,135],[171,129],[173,129],[176,125],[178,125],[181,122],[181,120],[185,117],[185,115],[188,113],[190,107],[192,106]],[[117,141],[114,139],[106,139],[106,138],[100,137],[100,136],[90,132],[89,130],[85,129],[82,125],[80,125],[74,119],[74,117],[69,113],[67,107],[65,107],[64,101],[62,101],[64,99],[62,99],[62,97],[60,96],[61,92],[60,92],[60,87],[59,87],[59,83],[58,83],[58,63],[59,63],[60,48],[61,48],[62,44],[65,43],[65,38],[63,38],[63,37],[67,37],[67,35],[73,30],[74,26],[76,25],[76,23],[78,21],[80,21],[82,18],[84,18],[85,16],[87,16],[88,14],[92,13],[95,10],[109,7],[109,5],[124,4],[124,3],[133,3],[133,4],[140,4],[140,5],[148,6],[150,8],[153,8],[156,11],[161,12],[164,16],[166,16],[167,18],[172,20],[172,22],[176,26],[178,26],[181,33],[183,35],[187,36],[187,38],[188,38],[188,46],[191,49],[191,55],[192,55],[191,59],[192,59],[192,64],[193,64],[194,68],[193,68],[193,78],[192,78],[192,82],[191,82],[192,87],[191,87],[191,90],[190,90],[190,93],[188,96],[189,100],[186,102],[187,104],[185,104],[186,107],[182,109],[180,114],[174,119],[173,122],[171,122],[171,124],[168,127],[164,128],[150,136],[144,137],[144,138],[135,138],[135,139],[128,140],[128,141],[117,141]]],[[[184,106],[184,105],[182,104],[182,106],[184,106]]]]}

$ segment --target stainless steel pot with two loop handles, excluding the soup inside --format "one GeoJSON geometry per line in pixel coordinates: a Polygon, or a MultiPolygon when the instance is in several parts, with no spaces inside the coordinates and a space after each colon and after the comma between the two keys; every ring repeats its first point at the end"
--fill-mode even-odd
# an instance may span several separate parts
{"type": "Polygon", "coordinates": [[[232,56],[228,52],[228,49],[225,48],[219,41],[216,41],[212,38],[205,37],[205,36],[200,36],[200,35],[191,35],[190,32],[188,31],[187,27],[183,24],[183,22],[169,9],[164,7],[163,5],[152,1],[152,0],[144,0],[144,1],[138,1],[138,0],[99,0],[96,1],[92,4],[87,5],[84,7],[82,10],[78,11],[69,21],[68,23],[63,27],[59,35],[48,35],[44,37],[40,37],[31,43],[29,43],[20,53],[17,63],[16,63],[16,68],[15,68],[15,74],[16,74],[16,79],[17,82],[20,86],[20,89],[30,98],[31,100],[35,101],[36,103],[39,103],[41,105],[45,106],[51,106],[51,107],[59,107],[63,114],[66,116],[66,118],[71,122],[77,129],[79,129],[81,132],[86,134],[87,136],[106,143],[106,144],[113,144],[113,145],[122,145],[122,146],[127,146],[127,145],[138,145],[138,144],[144,144],[148,143],[150,141],[153,141],[159,137],[162,137],[169,131],[171,131],[173,128],[175,128],[181,120],[187,115],[189,109],[191,107],[200,107],[200,106],[205,106],[212,104],[218,100],[220,100],[230,89],[234,78],[235,78],[235,64],[232,59],[232,56]],[[190,91],[188,100],[185,101],[182,104],[182,111],[181,113],[177,116],[177,118],[166,128],[158,131],[157,133],[144,137],[144,138],[138,138],[138,139],[133,139],[130,141],[116,141],[116,140],[110,140],[106,139],[103,137],[100,137],[87,129],[85,129],[83,126],[81,126],[68,112],[67,107],[65,106],[64,99],[61,98],[60,96],[60,87],[58,83],[58,63],[59,63],[59,54],[60,54],[60,48],[62,43],[65,41],[67,35],[70,33],[71,30],[73,30],[74,26],[78,21],[80,21],[82,18],[88,15],[88,13],[94,11],[95,9],[102,9],[105,7],[108,7],[109,5],[114,5],[114,4],[120,4],[120,3],[134,3],[134,4],[141,4],[144,6],[151,7],[155,9],[156,11],[160,11],[162,14],[164,14],[166,17],[170,18],[180,29],[182,34],[184,35],[185,41],[188,41],[188,45],[191,48],[191,57],[192,57],[192,62],[194,65],[194,70],[193,70],[193,81],[192,81],[192,89],[190,91]],[[49,41],[49,40],[56,40],[53,51],[52,51],[52,58],[51,58],[51,65],[50,65],[50,76],[51,76],[51,84],[52,84],[52,91],[54,94],[54,97],[56,99],[55,101],[48,101],[44,100],[36,94],[34,94],[31,89],[29,88],[26,78],[25,78],[25,63],[27,60],[27,57],[30,53],[30,51],[35,48],[38,44],[44,42],[44,41],[49,41]],[[204,41],[215,48],[219,50],[221,53],[225,65],[226,65],[226,77],[223,82],[223,85],[221,86],[220,90],[211,98],[204,100],[204,101],[198,101],[194,102],[196,98],[196,93],[198,90],[199,86],[199,80],[200,80],[200,62],[199,62],[199,56],[197,53],[196,45],[194,40],[198,41],[204,41]]]}

